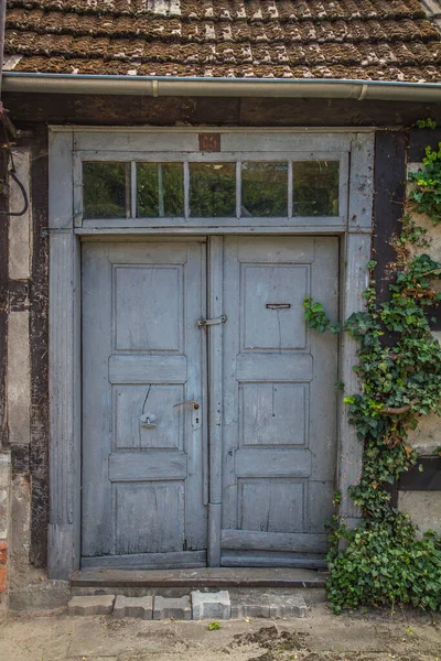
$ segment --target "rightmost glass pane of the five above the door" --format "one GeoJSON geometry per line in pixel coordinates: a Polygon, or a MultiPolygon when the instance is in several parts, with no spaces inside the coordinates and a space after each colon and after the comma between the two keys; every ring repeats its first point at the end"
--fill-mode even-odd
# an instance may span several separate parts
{"type": "Polygon", "coordinates": [[[338,216],[338,161],[292,164],[293,216],[338,216]]]}

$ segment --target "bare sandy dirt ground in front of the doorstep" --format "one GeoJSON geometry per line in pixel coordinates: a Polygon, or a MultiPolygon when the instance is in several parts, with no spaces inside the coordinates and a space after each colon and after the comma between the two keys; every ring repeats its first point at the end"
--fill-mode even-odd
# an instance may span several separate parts
{"type": "Polygon", "coordinates": [[[412,610],[305,619],[208,622],[11,614],[0,622],[1,661],[441,661],[441,616],[412,610]]]}

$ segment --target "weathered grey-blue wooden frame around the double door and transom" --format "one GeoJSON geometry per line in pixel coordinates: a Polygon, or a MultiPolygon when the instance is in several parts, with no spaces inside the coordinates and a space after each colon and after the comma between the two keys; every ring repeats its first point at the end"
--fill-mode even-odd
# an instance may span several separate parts
{"type": "MultiPolygon", "coordinates": [[[[179,134],[193,132],[197,136],[203,129],[176,129],[179,134]]],[[[208,263],[208,314],[220,316],[223,277],[223,234],[332,234],[341,239],[341,318],[364,310],[363,292],[368,283],[366,264],[370,260],[373,234],[373,184],[374,184],[374,138],[373,129],[335,131],[315,130],[314,139],[330,139],[330,134],[341,136],[351,145],[351,167],[348,172],[349,198],[347,224],[343,227],[256,227],[228,226],[222,228],[84,228],[78,223],[76,206],[78,186],[74,176],[74,156],[78,140],[87,144],[95,134],[101,137],[107,149],[121,133],[130,133],[127,128],[75,127],[50,128],[49,154],[49,234],[50,234],[50,524],[49,524],[49,574],[51,578],[66,579],[79,568],[80,561],[80,456],[82,456],[82,404],[80,404],[80,238],[108,240],[109,237],[163,238],[215,235],[209,242],[208,263]]],[[[213,129],[209,129],[214,132],[213,129]]],[[[246,134],[247,129],[217,129],[223,133],[246,134]]],[[[137,133],[155,133],[161,139],[161,129],[137,129],[137,133]]],[[[166,133],[173,133],[166,129],[166,133]]],[[[305,129],[268,129],[265,134],[289,133],[295,140],[308,143],[312,137],[305,129]]],[[[256,139],[256,130],[252,130],[256,139]]],[[[96,137],[95,137],[96,142],[96,137]]],[[[94,147],[96,144],[94,143],[94,147]]],[[[92,148],[89,148],[92,149],[92,148]]],[[[323,150],[321,150],[323,152],[323,150]]],[[[115,153],[115,151],[114,151],[115,153]]],[[[263,154],[265,152],[262,152],[263,154]]],[[[181,239],[182,240],[182,239],[181,239]]],[[[218,366],[222,353],[222,325],[211,329],[209,358],[212,366],[218,366]],[[217,357],[217,360],[214,358],[217,357]]],[[[347,334],[340,339],[338,375],[345,383],[346,392],[359,389],[353,366],[357,361],[357,345],[347,334]]],[[[209,376],[212,405],[211,427],[211,483],[208,503],[208,565],[218,566],[220,561],[220,516],[222,516],[222,380],[212,368],[209,376]]],[[[337,430],[337,488],[342,492],[340,518],[348,527],[354,527],[361,518],[358,508],[348,496],[348,487],[361,476],[363,446],[356,432],[348,423],[347,407],[338,404],[337,430]]]]}

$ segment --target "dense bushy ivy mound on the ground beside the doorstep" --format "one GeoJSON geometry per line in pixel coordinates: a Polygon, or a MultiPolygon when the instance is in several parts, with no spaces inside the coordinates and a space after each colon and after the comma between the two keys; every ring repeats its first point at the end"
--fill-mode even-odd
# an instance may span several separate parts
{"type": "Polygon", "coordinates": [[[418,539],[404,514],[366,521],[336,533],[345,551],[329,559],[327,595],[334,613],[394,604],[438,610],[441,606],[441,544],[434,533],[418,539]]]}

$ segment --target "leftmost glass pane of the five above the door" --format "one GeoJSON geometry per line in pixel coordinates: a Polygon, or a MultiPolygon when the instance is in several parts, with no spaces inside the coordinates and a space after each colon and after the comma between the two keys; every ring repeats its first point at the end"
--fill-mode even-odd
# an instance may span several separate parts
{"type": "Polygon", "coordinates": [[[126,218],[130,163],[83,163],[85,218],[126,218]]]}

